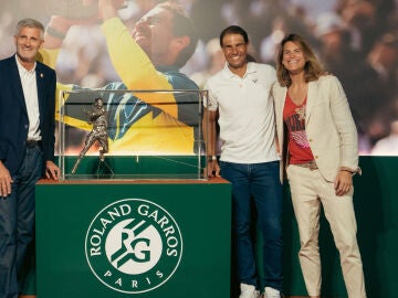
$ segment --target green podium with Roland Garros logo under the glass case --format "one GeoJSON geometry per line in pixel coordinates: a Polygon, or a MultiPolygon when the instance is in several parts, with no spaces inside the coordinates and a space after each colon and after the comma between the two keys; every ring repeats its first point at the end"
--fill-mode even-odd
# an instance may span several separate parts
{"type": "Polygon", "coordinates": [[[230,297],[222,180],[40,181],[40,298],[230,297]]]}

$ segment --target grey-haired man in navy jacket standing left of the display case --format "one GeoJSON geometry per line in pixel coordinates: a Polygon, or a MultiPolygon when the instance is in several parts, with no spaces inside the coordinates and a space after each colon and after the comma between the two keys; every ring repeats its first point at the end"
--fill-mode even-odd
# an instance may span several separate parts
{"type": "Polygon", "coordinates": [[[55,72],[36,62],[44,28],[17,25],[17,53],[0,61],[0,298],[17,298],[34,234],[34,185],[59,179],[54,159],[55,72]]]}

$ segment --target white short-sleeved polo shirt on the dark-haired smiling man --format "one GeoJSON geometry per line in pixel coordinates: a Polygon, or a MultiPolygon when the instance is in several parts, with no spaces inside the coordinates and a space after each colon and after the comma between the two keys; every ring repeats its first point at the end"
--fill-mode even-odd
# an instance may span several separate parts
{"type": "Polygon", "coordinates": [[[275,121],[271,85],[275,70],[249,62],[243,77],[224,68],[210,77],[209,110],[219,109],[222,161],[259,163],[279,160],[275,146],[275,121]]]}

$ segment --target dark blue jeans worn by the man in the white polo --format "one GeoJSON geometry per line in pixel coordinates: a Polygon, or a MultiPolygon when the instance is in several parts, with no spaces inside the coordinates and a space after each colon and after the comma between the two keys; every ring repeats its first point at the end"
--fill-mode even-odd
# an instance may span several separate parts
{"type": "Polygon", "coordinates": [[[220,168],[222,178],[232,184],[239,281],[282,290],[282,185],[279,161],[250,164],[221,161],[220,168]],[[263,237],[260,252],[263,277],[259,277],[255,268],[255,245],[251,237],[252,198],[258,213],[256,226],[263,237]]]}

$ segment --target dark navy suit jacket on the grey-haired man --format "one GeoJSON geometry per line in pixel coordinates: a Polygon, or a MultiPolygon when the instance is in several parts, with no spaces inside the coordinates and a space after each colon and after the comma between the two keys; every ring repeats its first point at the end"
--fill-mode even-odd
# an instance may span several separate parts
{"type": "MultiPolygon", "coordinates": [[[[38,62],[36,82],[43,162],[54,159],[54,70],[38,62]]],[[[0,160],[13,175],[21,164],[28,139],[29,118],[15,55],[0,61],[0,160]]],[[[45,169],[45,167],[44,167],[45,169]]]]}

